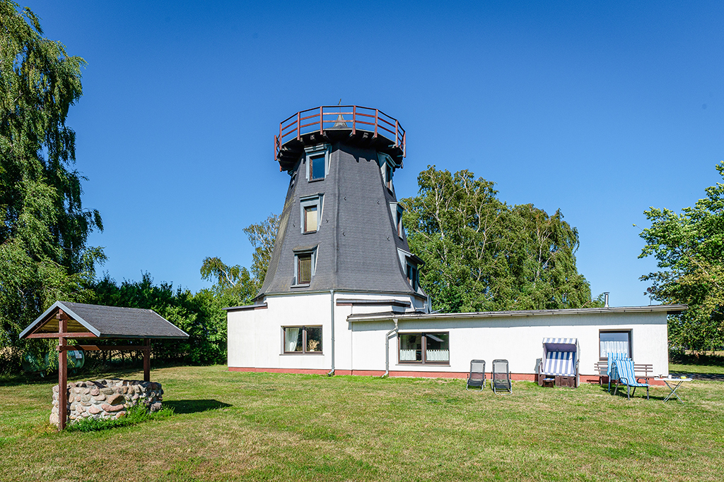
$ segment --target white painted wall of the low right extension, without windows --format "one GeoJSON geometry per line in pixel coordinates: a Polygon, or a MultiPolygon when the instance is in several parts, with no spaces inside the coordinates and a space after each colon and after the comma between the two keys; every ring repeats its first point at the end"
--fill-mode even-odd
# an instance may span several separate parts
{"type": "MultiPolygon", "coordinates": [[[[384,333],[390,322],[353,324],[353,369],[384,370],[384,333]]],[[[633,361],[652,363],[654,374],[668,374],[665,312],[568,314],[482,319],[400,320],[399,332],[449,332],[450,366],[397,363],[397,337],[390,338],[391,371],[457,371],[470,369],[471,359],[509,361],[510,371],[533,374],[536,358],[542,358],[545,337],[578,338],[581,347],[579,373],[597,374],[599,330],[632,330],[633,361]]]]}

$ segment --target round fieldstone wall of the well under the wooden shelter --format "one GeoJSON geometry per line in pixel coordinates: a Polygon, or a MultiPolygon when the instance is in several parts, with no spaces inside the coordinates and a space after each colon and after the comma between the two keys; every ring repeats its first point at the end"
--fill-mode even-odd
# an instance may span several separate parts
{"type": "MultiPolygon", "coordinates": [[[[131,405],[143,403],[148,410],[161,410],[164,390],[156,382],[103,379],[68,384],[70,423],[83,418],[120,418],[131,405]]],[[[58,425],[58,385],[53,387],[50,423],[58,425]]]]}

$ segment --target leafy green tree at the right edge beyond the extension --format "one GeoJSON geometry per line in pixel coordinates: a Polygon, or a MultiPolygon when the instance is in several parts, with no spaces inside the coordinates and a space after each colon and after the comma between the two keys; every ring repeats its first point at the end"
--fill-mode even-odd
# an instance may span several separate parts
{"type": "MultiPolygon", "coordinates": [[[[724,161],[716,166],[724,179],[724,161]]],[[[661,271],[641,276],[652,282],[652,297],[689,305],[669,319],[673,347],[713,349],[724,344],[724,184],[681,214],[652,207],[651,227],[641,231],[646,246],[639,258],[654,256],[661,271]]]]}

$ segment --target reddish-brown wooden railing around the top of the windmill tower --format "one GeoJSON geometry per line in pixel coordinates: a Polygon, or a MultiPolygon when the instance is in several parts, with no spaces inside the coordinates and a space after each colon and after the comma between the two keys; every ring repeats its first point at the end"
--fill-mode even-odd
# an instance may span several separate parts
{"type": "Polygon", "coordinates": [[[370,107],[321,106],[299,111],[279,123],[279,135],[274,135],[274,159],[279,160],[282,146],[290,140],[299,140],[304,134],[311,132],[322,134],[324,129],[341,122],[347,124],[342,129],[351,129],[351,135],[360,130],[373,132],[373,137],[381,135],[390,139],[395,142],[393,147],[400,147],[405,157],[405,129],[397,119],[370,107]]]}

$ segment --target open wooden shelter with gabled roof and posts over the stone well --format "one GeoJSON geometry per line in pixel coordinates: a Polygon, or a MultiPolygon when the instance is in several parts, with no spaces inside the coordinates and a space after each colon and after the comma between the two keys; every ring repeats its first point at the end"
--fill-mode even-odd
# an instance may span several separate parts
{"type": "Polygon", "coordinates": [[[56,301],[20,333],[21,338],[58,339],[58,429],[67,418],[68,350],[141,350],[143,380],[151,381],[151,340],[178,340],[188,333],[174,326],[151,309],[120,308],[56,301]],[[85,345],[69,345],[67,340],[83,340],[85,345]],[[109,340],[138,340],[143,344],[103,345],[109,340]],[[63,410],[63,408],[65,408],[63,410]]]}

